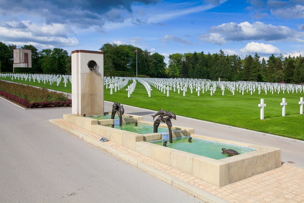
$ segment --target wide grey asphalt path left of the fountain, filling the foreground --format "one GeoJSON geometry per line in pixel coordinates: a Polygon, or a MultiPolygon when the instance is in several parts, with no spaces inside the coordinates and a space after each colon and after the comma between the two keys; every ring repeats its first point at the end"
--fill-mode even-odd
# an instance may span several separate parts
{"type": "Polygon", "coordinates": [[[0,98],[0,202],[202,202],[0,98]]]}

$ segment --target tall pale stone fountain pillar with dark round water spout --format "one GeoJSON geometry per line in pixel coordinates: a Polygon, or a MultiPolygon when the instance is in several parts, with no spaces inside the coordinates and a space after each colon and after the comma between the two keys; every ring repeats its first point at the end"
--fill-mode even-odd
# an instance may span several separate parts
{"type": "Polygon", "coordinates": [[[72,114],[103,114],[103,84],[103,52],[72,51],[72,114]]]}

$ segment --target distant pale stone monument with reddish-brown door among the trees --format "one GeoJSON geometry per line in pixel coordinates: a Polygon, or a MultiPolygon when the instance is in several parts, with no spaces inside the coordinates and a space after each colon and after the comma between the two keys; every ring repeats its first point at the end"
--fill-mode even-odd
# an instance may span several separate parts
{"type": "Polygon", "coordinates": [[[32,68],[32,51],[29,49],[14,49],[14,64],[15,67],[32,68]]]}

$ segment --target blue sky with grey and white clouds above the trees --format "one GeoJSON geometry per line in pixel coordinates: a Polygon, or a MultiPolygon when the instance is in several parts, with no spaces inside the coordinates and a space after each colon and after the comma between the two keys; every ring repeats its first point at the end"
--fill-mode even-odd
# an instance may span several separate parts
{"type": "Polygon", "coordinates": [[[0,1],[0,41],[39,51],[132,44],[164,55],[304,55],[304,0],[0,1]]]}

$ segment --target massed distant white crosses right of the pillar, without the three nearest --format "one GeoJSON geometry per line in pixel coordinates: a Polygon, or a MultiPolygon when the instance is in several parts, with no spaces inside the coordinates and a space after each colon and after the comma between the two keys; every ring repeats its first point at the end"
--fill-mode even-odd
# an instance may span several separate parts
{"type": "MultiPolygon", "coordinates": [[[[116,80],[132,80],[132,78],[117,78],[117,77],[108,77],[105,78],[105,85],[112,83],[112,86],[114,85],[114,82],[116,80]]],[[[222,95],[225,95],[225,91],[228,89],[232,95],[235,95],[235,91],[239,91],[244,95],[244,92],[247,93],[250,91],[250,94],[252,95],[256,90],[259,94],[261,94],[262,91],[265,92],[265,94],[271,92],[274,94],[274,92],[277,92],[278,94],[282,92],[285,94],[285,91],[287,93],[302,93],[304,92],[304,86],[303,85],[297,85],[297,84],[285,84],[285,83],[269,83],[269,82],[247,82],[247,81],[238,81],[238,82],[225,82],[225,81],[209,81],[205,79],[160,79],[160,78],[137,78],[140,83],[142,83],[145,88],[151,89],[151,86],[154,86],[154,88],[160,90],[161,92],[164,92],[164,94],[167,92],[167,96],[169,96],[169,91],[175,92],[176,89],[178,90],[178,94],[180,94],[180,91],[183,91],[183,96],[186,96],[186,92],[188,88],[191,90],[191,94],[193,93],[193,89],[197,92],[197,95],[200,96],[200,91],[202,90],[202,93],[204,94],[208,90],[210,91],[210,95],[212,96],[213,93],[215,93],[217,87],[220,87],[222,90],[222,95]],[[166,91],[167,90],[167,91],[166,91]]],[[[151,90],[148,90],[148,96],[151,96],[151,90]]],[[[134,89],[133,89],[134,90],[134,89]]]]}

